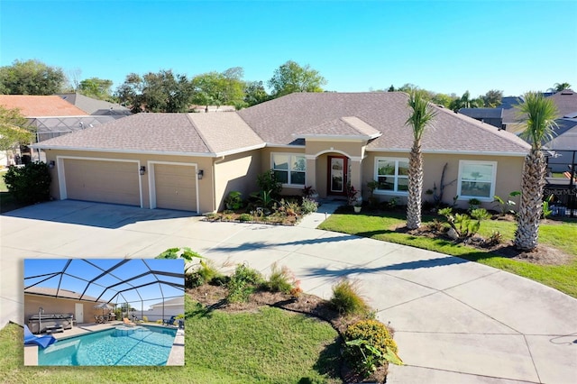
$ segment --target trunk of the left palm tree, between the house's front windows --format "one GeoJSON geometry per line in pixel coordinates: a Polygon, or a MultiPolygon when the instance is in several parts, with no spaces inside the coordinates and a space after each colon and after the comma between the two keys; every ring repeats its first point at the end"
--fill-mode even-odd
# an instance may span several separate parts
{"type": "Polygon", "coordinates": [[[421,198],[423,195],[423,156],[421,143],[415,142],[408,160],[407,228],[421,226],[421,198]]]}

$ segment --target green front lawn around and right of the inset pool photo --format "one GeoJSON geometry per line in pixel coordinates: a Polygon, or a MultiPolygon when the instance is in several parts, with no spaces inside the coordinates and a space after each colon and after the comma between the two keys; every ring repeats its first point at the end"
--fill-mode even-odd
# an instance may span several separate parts
{"type": "Polygon", "coordinates": [[[3,383],[337,383],[337,334],[327,323],[263,307],[206,312],[186,299],[184,367],[24,367],[23,329],[0,330],[3,383]]]}

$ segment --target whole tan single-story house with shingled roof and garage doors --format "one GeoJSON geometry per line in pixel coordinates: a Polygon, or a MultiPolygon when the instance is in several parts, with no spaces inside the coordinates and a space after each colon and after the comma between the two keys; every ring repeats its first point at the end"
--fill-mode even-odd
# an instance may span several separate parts
{"type": "MultiPolygon", "coordinates": [[[[461,206],[520,188],[529,145],[463,114],[435,106],[426,130],[424,188],[440,187],[461,206]]],[[[193,211],[222,209],[224,197],[257,190],[273,169],[283,194],[314,187],[345,197],[378,180],[375,196],[408,196],[408,96],[383,93],[295,93],[226,114],[134,114],[34,146],[56,165],[51,196],[193,211]]],[[[424,198],[430,198],[426,195],[424,198]]]]}

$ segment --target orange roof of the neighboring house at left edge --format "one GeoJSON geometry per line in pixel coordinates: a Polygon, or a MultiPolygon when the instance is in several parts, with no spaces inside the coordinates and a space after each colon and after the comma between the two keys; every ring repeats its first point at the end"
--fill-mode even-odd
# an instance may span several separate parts
{"type": "Polygon", "coordinates": [[[24,117],[86,116],[87,113],[60,96],[0,95],[0,105],[20,109],[24,117]]]}

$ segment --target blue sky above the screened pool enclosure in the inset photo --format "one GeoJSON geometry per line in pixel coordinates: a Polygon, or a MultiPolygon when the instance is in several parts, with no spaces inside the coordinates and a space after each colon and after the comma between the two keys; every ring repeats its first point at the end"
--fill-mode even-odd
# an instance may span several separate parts
{"type": "MultiPolygon", "coordinates": [[[[119,284],[124,279],[138,277],[149,269],[182,274],[184,273],[183,259],[131,259],[99,279],[96,277],[100,276],[104,270],[109,270],[123,259],[88,259],[87,261],[71,259],[69,266],[66,267],[68,261],[68,259],[25,259],[24,288],[39,283],[36,287],[58,288],[60,285],[60,288],[77,293],[84,293],[87,289],[86,295],[90,297],[100,297],[101,301],[112,300],[111,303],[113,304],[128,301],[132,302],[133,306],[137,306],[137,304],[140,306],[141,298],[145,302],[144,306],[150,306],[161,302],[162,295],[164,297],[176,297],[184,294],[181,289],[165,284],[162,285],[162,291],[160,291],[159,284],[147,285],[156,281],[151,274],[133,279],[129,284],[119,284]],[[64,275],[56,274],[62,270],[65,270],[64,275]],[[54,274],[54,277],[50,277],[51,274],[54,274]],[[93,279],[96,280],[88,284],[93,279]],[[138,288],[138,292],[130,289],[139,286],[144,287],[138,288]],[[106,289],[106,287],[112,288],[106,289]],[[122,291],[122,296],[117,296],[120,291],[122,291]]],[[[184,277],[173,278],[158,275],[158,278],[169,283],[184,284],[184,277]]]]}

